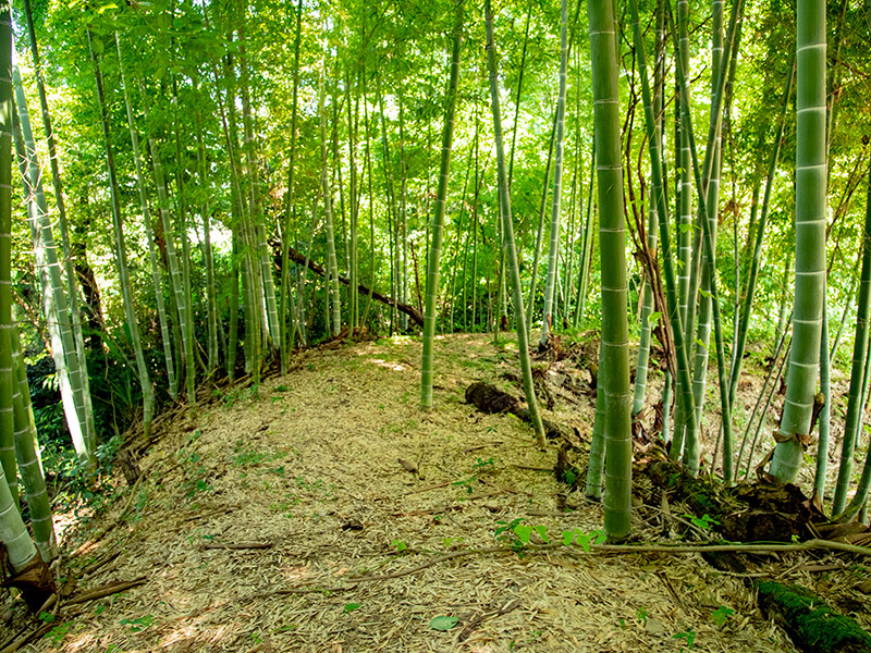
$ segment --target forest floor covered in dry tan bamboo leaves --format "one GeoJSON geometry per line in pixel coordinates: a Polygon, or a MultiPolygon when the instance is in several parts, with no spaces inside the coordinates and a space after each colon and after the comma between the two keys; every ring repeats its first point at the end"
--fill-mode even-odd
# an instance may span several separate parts
{"type": "MultiPolygon", "coordinates": [[[[851,588],[868,570],[831,553],[758,556],[738,574],[699,554],[512,552],[499,529],[514,520],[559,544],[566,530],[594,538],[602,508],[566,496],[554,448],[538,451],[529,427],[465,403],[480,380],[520,395],[506,380],[516,344],[439,338],[427,412],[420,356],[407,337],[312,349],[256,395],[214,392],[195,418],[164,416],[142,479],[68,533],[61,563],[76,592],[142,584],[62,604],[23,650],[771,653],[793,646],[748,577],[860,601],[851,588]]],[[[592,395],[555,399],[547,417],[588,442],[592,395]]],[[[634,532],[661,539],[655,510],[635,510],[634,532]]],[[[849,611],[866,628],[870,605],[849,611]]]]}

